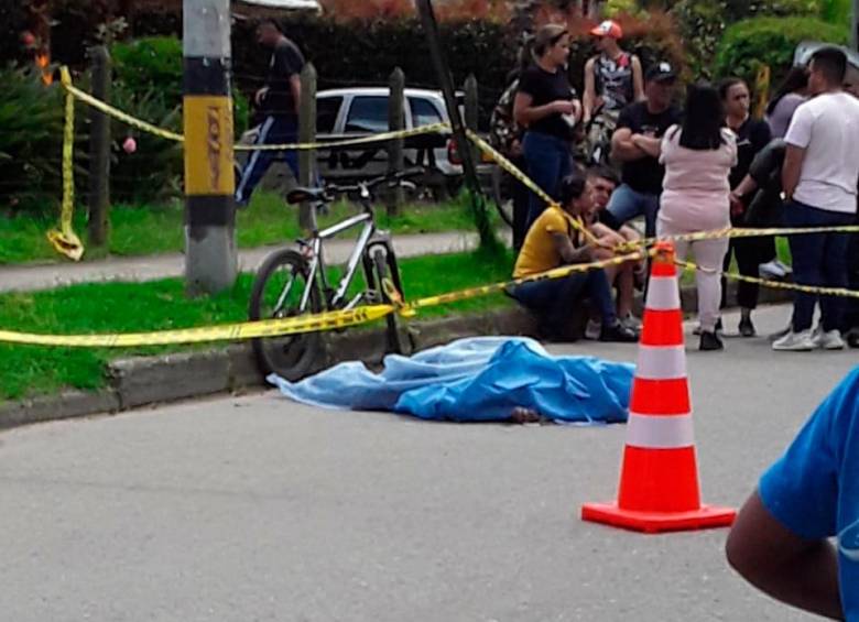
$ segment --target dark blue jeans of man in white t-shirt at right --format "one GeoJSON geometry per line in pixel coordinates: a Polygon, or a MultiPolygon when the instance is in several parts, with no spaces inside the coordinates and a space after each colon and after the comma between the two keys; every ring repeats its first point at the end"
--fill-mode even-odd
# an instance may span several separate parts
{"type": "MultiPolygon", "coordinates": [[[[850,225],[852,214],[818,209],[796,200],[784,206],[786,227],[839,227],[850,225]]],[[[791,236],[793,279],[800,285],[818,287],[847,287],[848,233],[805,233],[791,236]]],[[[841,328],[845,301],[839,296],[817,296],[796,292],[793,302],[793,330],[812,328],[814,307],[820,303],[820,323],[825,331],[841,328]]]]}

